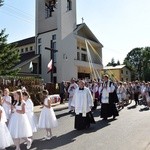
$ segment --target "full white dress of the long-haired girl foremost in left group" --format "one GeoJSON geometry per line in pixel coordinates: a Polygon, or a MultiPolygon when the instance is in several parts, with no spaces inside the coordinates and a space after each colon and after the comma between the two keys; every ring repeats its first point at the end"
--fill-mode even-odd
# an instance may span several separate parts
{"type": "Polygon", "coordinates": [[[26,138],[32,136],[32,128],[29,122],[29,119],[27,117],[27,114],[20,114],[17,112],[17,110],[22,110],[22,105],[25,104],[24,101],[22,101],[21,105],[18,106],[18,102],[15,105],[16,111],[12,113],[8,129],[10,131],[10,134],[12,138],[26,138]]]}

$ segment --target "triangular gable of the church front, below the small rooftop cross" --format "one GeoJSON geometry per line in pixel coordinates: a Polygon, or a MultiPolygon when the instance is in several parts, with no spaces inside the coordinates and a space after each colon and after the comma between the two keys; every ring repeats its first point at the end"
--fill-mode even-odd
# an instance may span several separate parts
{"type": "Polygon", "coordinates": [[[96,38],[96,36],[92,33],[90,28],[85,23],[78,24],[74,32],[81,37],[87,38],[91,41],[101,44],[99,40],[96,38]]]}

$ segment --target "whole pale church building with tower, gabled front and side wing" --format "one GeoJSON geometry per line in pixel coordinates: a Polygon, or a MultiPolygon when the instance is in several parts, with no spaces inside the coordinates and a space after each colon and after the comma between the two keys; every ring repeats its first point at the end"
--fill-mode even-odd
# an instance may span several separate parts
{"type": "Polygon", "coordinates": [[[76,22],[76,0],[36,0],[35,36],[17,41],[21,75],[44,82],[95,78],[102,65],[102,47],[88,26],[76,22]],[[48,73],[48,64],[52,69],[48,73]],[[30,70],[32,66],[32,70],[30,70]],[[96,73],[95,73],[96,72],[96,73]]]}

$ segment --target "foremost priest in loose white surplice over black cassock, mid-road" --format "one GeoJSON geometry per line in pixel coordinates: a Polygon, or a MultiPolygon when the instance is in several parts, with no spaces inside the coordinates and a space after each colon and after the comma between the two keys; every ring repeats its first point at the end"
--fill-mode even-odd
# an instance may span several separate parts
{"type": "Polygon", "coordinates": [[[83,130],[95,123],[91,108],[93,98],[89,88],[85,87],[85,81],[79,80],[79,87],[75,90],[71,106],[75,110],[75,129],[83,130]]]}

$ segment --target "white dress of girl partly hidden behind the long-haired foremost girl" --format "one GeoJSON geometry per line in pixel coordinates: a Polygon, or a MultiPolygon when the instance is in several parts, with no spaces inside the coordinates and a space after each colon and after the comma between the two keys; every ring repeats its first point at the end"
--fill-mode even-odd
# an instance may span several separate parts
{"type": "Polygon", "coordinates": [[[33,105],[32,100],[28,99],[26,101],[25,111],[26,111],[27,117],[29,119],[30,125],[32,127],[32,132],[37,132],[37,119],[34,115],[33,107],[34,107],[34,105],[33,105]]]}

